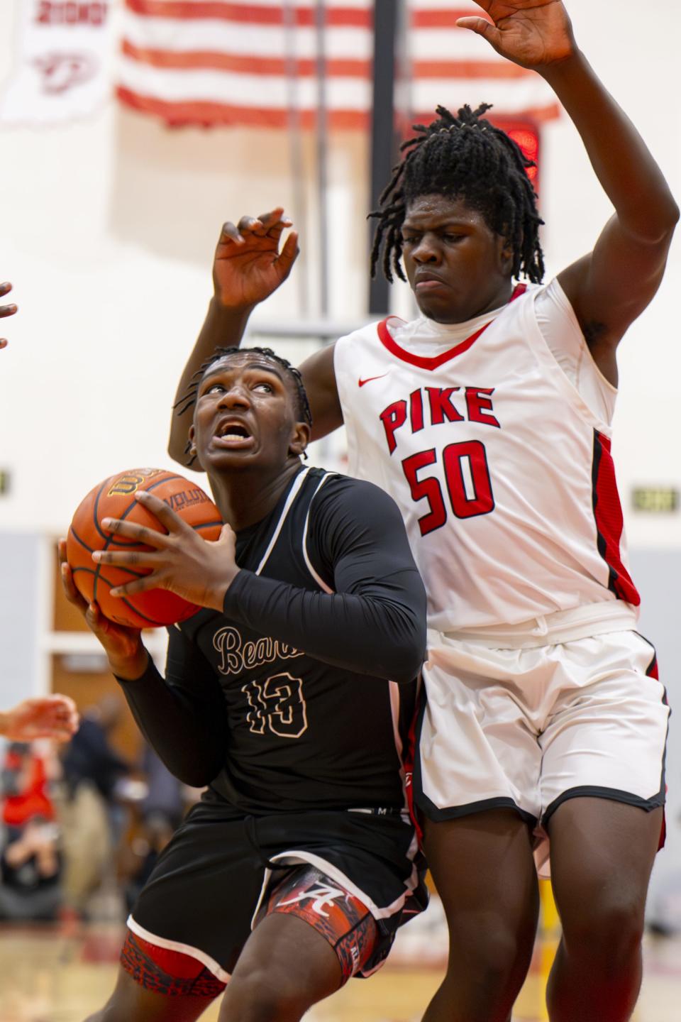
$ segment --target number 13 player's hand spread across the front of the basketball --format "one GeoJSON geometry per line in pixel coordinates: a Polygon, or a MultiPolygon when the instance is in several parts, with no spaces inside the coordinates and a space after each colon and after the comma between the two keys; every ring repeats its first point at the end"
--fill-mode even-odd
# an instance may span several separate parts
{"type": "Polygon", "coordinates": [[[148,551],[97,550],[93,553],[93,561],[99,564],[152,568],[150,574],[112,589],[111,596],[167,589],[200,607],[222,610],[225,594],[239,571],[235,560],[236,537],[232,528],[223,525],[220,538],[211,543],[195,532],[153,494],[142,490],[135,497],[158,518],[167,533],[118,518],[102,520],[102,527],[107,532],[152,548],[148,551]]]}

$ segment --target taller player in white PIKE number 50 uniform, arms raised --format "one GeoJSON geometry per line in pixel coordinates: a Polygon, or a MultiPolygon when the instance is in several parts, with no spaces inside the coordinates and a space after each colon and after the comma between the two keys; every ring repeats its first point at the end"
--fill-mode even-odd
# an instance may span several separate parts
{"type": "MultiPolygon", "coordinates": [[[[345,423],[350,472],[400,505],[429,593],[412,788],[450,956],[425,1019],[509,1018],[536,929],[533,850],[548,834],[564,934],[549,1017],[622,1022],[641,979],[669,711],[636,633],[611,420],[616,349],[660,285],[679,211],[563,3],[480,6],[490,21],[459,26],[552,86],[614,215],[540,286],[527,160],[485,107],[440,107],[375,214],[374,263],[383,252],[389,278],[403,266],[422,315],[343,337],[302,373],[314,435],[345,423]]],[[[288,276],[289,226],[282,210],[225,225],[179,394],[288,276]]],[[[186,435],[176,416],[169,451],[185,462],[186,435]]]]}

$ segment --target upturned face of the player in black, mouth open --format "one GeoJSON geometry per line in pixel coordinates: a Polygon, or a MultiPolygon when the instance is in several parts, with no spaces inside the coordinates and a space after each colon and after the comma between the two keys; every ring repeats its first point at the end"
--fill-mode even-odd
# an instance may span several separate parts
{"type": "Polygon", "coordinates": [[[293,381],[266,356],[244,352],[208,367],[197,390],[190,437],[207,472],[283,468],[309,427],[298,422],[293,381]]]}

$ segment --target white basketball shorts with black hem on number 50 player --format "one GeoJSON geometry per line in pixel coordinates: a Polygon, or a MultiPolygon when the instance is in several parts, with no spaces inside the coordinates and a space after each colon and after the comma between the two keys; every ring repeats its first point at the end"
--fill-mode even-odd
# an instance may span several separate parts
{"type": "Polygon", "coordinates": [[[414,796],[430,820],[509,807],[545,825],[578,796],[664,804],[669,706],[638,633],[498,649],[431,632],[428,657],[414,796]]]}

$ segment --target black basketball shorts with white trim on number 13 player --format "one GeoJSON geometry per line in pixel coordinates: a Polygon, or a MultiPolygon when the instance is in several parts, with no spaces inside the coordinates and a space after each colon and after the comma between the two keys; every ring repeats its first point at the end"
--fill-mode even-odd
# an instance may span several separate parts
{"type": "MultiPolygon", "coordinates": [[[[229,981],[251,930],[264,914],[290,911],[286,903],[295,902],[296,915],[314,925],[315,904],[329,917],[332,885],[339,896],[349,892],[358,912],[361,907],[369,910],[378,937],[372,936],[371,953],[348,973],[340,930],[334,936],[325,931],[327,924],[315,928],[334,946],[338,943],[344,976],[368,976],[387,958],[397,928],[427,903],[423,863],[410,822],[395,810],[253,817],[228,804],[199,802],[159,856],[128,926],[146,951],[149,945],[160,947],[200,963],[206,990],[210,987],[214,996],[218,988],[211,986],[211,977],[220,984],[229,981]],[[301,865],[317,872],[306,875],[301,865]],[[321,875],[328,884],[323,892],[310,886],[310,878],[321,875]]],[[[363,942],[364,949],[369,943],[363,942]]],[[[130,937],[127,947],[124,968],[142,982],[143,970],[133,967],[131,960],[137,950],[130,937]]]]}

